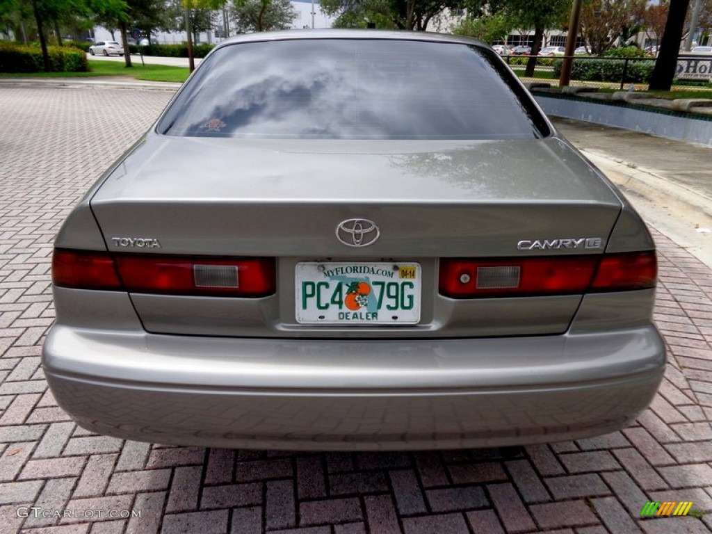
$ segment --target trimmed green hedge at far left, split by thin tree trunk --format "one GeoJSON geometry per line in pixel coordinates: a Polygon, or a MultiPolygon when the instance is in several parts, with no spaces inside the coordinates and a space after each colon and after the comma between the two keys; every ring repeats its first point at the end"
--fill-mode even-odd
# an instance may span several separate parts
{"type": "MultiPolygon", "coordinates": [[[[53,72],[77,73],[89,70],[86,54],[70,46],[48,46],[50,67],[53,72]]],[[[33,46],[14,43],[0,44],[0,72],[37,73],[44,70],[42,51],[33,46]]]]}

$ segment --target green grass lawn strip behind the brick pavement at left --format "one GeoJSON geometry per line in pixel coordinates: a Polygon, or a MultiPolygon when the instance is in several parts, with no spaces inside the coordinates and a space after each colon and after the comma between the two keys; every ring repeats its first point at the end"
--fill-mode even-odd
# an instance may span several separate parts
{"type": "Polygon", "coordinates": [[[129,76],[136,80],[157,82],[179,82],[188,78],[187,67],[168,65],[141,65],[141,58],[131,57],[132,68],[126,68],[118,61],[89,60],[88,73],[0,73],[6,78],[93,78],[95,76],[129,76]]]}

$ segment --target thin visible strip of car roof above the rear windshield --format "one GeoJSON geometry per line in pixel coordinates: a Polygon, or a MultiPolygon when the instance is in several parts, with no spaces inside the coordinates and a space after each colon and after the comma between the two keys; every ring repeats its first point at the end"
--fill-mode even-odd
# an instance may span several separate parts
{"type": "Polygon", "coordinates": [[[489,48],[482,41],[473,38],[455,36],[449,33],[434,33],[431,31],[394,31],[394,30],[356,30],[356,29],[323,29],[323,30],[285,30],[261,31],[244,33],[221,41],[215,48],[223,48],[235,43],[256,43],[259,41],[292,41],[305,39],[384,39],[389,41],[429,41],[433,43],[461,43],[489,48]]]}

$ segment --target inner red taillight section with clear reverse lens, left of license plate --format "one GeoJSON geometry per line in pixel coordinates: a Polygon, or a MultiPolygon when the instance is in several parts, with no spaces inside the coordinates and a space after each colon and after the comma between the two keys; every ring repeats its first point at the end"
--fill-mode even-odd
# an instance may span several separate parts
{"type": "Polygon", "coordinates": [[[214,259],[117,256],[121,280],[134,293],[263,297],[276,288],[273,258],[214,259]]]}

